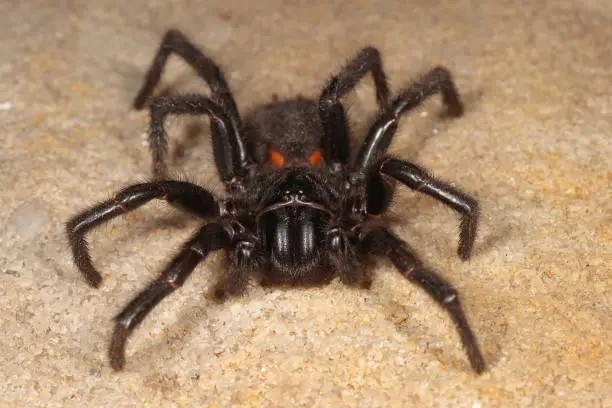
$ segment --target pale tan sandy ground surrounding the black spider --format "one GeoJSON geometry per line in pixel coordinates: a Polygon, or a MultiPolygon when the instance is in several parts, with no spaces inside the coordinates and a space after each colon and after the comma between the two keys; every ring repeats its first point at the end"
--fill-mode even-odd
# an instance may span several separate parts
{"type": "MultiPolygon", "coordinates": [[[[0,405],[612,407],[609,0],[213,3],[0,4],[0,405]],[[93,290],[63,223],[149,176],[148,118],[130,103],[170,27],[225,68],[242,112],[273,93],[317,96],[368,44],[394,90],[452,70],[465,116],[444,120],[433,98],[392,150],[478,198],[474,257],[457,258],[456,217],[430,198],[403,191],[391,220],[460,290],[486,373],[388,262],[369,291],[252,285],[217,304],[220,255],[135,331],[126,370],[110,369],[113,316],[199,224],[156,203],[98,229],[107,275],[93,290]]],[[[206,92],[178,59],[163,83],[206,92]]],[[[370,80],[346,98],[356,140],[373,100],[370,80]]],[[[169,128],[175,174],[221,192],[206,122],[169,128]]]]}

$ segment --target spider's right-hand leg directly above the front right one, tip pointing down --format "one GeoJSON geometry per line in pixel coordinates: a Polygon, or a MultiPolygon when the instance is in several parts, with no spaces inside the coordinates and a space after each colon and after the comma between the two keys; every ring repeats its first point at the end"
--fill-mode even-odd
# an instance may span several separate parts
{"type": "Polygon", "coordinates": [[[431,177],[426,170],[407,161],[387,158],[382,162],[380,172],[401,181],[413,190],[443,202],[461,214],[457,253],[463,260],[470,258],[478,228],[476,200],[450,184],[431,177]]]}

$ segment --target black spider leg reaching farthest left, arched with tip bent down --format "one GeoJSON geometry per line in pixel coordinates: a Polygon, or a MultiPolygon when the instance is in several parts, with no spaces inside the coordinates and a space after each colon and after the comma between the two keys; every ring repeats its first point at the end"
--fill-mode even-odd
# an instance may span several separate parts
{"type": "Polygon", "coordinates": [[[77,214],[66,223],[66,232],[74,263],[90,286],[100,286],[102,276],[93,265],[85,234],[153,199],[166,200],[201,217],[216,216],[219,213],[214,197],[203,188],[183,181],[156,181],[126,187],[114,198],[77,214]]]}

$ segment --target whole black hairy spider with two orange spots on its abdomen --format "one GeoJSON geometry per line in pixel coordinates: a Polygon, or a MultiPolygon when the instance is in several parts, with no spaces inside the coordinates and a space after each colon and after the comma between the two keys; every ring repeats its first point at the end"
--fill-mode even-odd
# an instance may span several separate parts
{"type": "Polygon", "coordinates": [[[211,96],[159,96],[149,103],[152,181],[120,190],[114,198],[71,218],[68,240],[74,262],[87,283],[98,287],[102,276],[88,251],[91,229],[133,211],[153,199],[201,217],[207,222],[184,243],[157,279],[115,318],[109,348],[114,370],[125,365],[125,344],[149,312],[185,283],[195,267],[213,251],[228,253],[229,266],[215,295],[241,294],[250,278],[262,284],[322,284],[339,278],[364,288],[371,283],[362,261],[384,256],[410,282],[424,289],[452,318],[472,369],[481,373],[485,361],[457,291],[425,267],[409,246],[378,217],[391,204],[396,182],[450,206],[461,216],[458,254],[470,258],[476,228],[476,201],[426,170],[390,157],[387,148],[399,119],[426,98],[442,94],[448,115],[460,116],[463,106],[444,67],[436,67],[390,99],[380,53],[366,47],[329,82],[318,100],[298,97],[275,100],[242,120],[218,65],[180,31],[168,31],[134,100],[142,109],[151,99],[167,58],[182,57],[207,82],[211,96]],[[354,160],[341,99],[368,73],[379,105],[354,160]],[[168,115],[207,115],[213,154],[226,198],[168,176],[164,121],[168,115]]]}

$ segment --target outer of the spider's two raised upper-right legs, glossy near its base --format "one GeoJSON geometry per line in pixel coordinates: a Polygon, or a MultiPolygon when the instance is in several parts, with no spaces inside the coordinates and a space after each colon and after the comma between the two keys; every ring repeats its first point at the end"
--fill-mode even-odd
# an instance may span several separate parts
{"type": "Polygon", "coordinates": [[[419,106],[428,97],[442,93],[442,101],[447,106],[450,116],[463,114],[463,105],[450,72],[444,67],[436,67],[426,73],[420,80],[401,92],[374,122],[357,154],[355,169],[364,173],[373,166],[389,147],[397,130],[397,121],[405,113],[419,106]]]}

